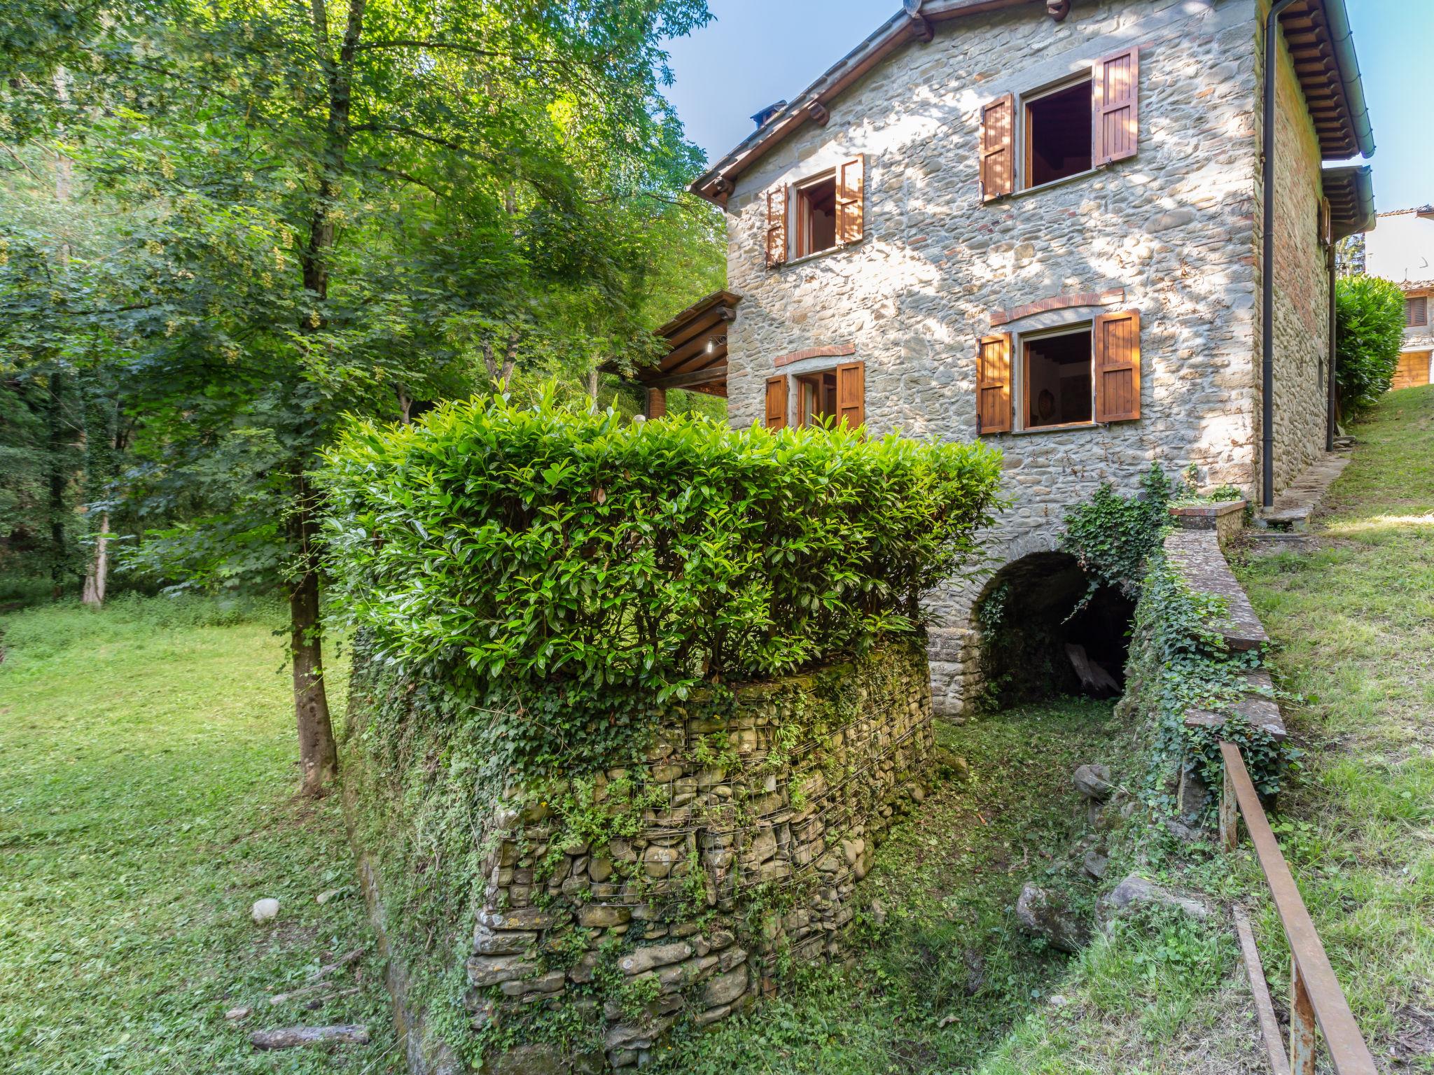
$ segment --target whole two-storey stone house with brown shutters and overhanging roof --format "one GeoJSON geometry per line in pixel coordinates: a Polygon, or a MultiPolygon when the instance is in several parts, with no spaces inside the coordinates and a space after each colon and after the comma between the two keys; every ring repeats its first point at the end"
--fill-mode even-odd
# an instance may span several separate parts
{"type": "Polygon", "coordinates": [[[1322,162],[1374,145],[1344,0],[1281,7],[1269,183],[1259,0],[906,0],[693,183],[728,290],[664,325],[651,414],[697,388],[1005,456],[988,569],[931,596],[938,712],[979,685],[982,592],[1074,603],[1054,550],[1100,483],[1159,460],[1272,503],[1326,449],[1332,244],[1372,191],[1322,162]]]}

